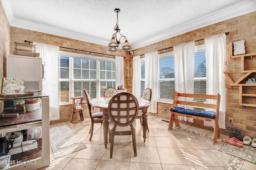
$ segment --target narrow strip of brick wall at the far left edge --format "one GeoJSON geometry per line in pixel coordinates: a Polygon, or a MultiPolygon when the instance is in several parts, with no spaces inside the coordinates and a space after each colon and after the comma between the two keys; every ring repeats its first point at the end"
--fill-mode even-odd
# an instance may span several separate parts
{"type": "MultiPolygon", "coordinates": [[[[0,89],[2,91],[2,80],[6,77],[6,59],[10,54],[10,24],[4,12],[2,1],[0,1],[0,89]]],[[[4,110],[4,102],[0,102],[0,113],[4,110]]]]}

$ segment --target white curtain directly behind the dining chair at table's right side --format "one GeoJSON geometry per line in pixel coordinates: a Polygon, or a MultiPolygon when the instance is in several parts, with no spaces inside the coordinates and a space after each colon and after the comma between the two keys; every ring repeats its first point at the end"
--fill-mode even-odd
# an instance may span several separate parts
{"type": "Polygon", "coordinates": [[[145,54],[145,89],[151,88],[152,105],[148,107],[148,112],[157,113],[157,60],[158,60],[158,51],[145,54]]]}

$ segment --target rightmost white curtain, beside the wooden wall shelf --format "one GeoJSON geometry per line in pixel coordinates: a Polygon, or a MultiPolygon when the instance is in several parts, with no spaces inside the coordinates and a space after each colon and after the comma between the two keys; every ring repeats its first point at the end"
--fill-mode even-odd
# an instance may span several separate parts
{"type": "MultiPolygon", "coordinates": [[[[219,127],[225,129],[226,93],[224,84],[224,58],[226,35],[220,34],[204,39],[206,57],[206,94],[220,94],[219,127]]],[[[208,101],[216,104],[216,101],[208,101]]],[[[213,126],[214,121],[204,121],[205,126],[213,126]]]]}

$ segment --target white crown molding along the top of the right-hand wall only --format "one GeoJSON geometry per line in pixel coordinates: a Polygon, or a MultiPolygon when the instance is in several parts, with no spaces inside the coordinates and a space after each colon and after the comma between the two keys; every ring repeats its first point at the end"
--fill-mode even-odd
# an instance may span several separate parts
{"type": "Polygon", "coordinates": [[[132,44],[132,49],[138,49],[147,45],[151,45],[153,43],[163,41],[165,39],[169,39],[171,37],[175,37],[189,31],[193,31],[195,29],[199,29],[202,27],[206,27],[208,25],[212,25],[214,23],[218,23],[220,21],[228,20],[230,18],[234,18],[237,16],[241,16],[243,14],[248,14],[250,12],[256,11],[256,2],[254,0],[247,2],[245,4],[238,4],[230,9],[225,10],[224,12],[217,13],[216,15],[204,16],[202,18],[198,18],[198,20],[184,23],[183,25],[178,25],[171,30],[161,32],[155,35],[152,38],[144,39],[143,42],[139,42],[136,44],[132,44]]]}

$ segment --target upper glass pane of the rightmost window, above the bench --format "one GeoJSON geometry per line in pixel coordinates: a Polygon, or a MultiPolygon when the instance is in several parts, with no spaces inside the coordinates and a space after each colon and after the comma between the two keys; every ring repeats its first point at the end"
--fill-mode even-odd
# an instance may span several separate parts
{"type": "Polygon", "coordinates": [[[194,77],[206,77],[205,51],[195,53],[194,77]]]}

